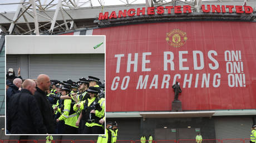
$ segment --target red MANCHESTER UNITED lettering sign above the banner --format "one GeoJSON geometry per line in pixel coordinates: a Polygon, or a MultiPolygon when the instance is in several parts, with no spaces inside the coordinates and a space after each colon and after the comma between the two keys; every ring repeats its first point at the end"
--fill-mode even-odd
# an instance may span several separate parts
{"type": "MultiPolygon", "coordinates": [[[[179,13],[191,13],[191,6],[159,6],[159,7],[142,7],[142,8],[131,8],[128,11],[124,9],[123,11],[119,11],[116,13],[115,11],[112,11],[111,13],[105,12],[99,14],[99,20],[104,20],[104,19],[116,19],[116,18],[122,18],[122,17],[134,17],[134,16],[145,16],[146,13],[149,16],[158,14],[171,14],[171,9],[174,9],[175,14],[179,13]],[[155,11],[156,9],[156,11],[155,11]],[[166,11],[166,12],[165,12],[166,11]],[[109,15],[110,14],[110,15],[109,15]]],[[[246,13],[250,14],[253,13],[253,8],[250,6],[220,6],[220,5],[202,5],[201,6],[201,11],[204,13],[233,13],[233,9],[235,9],[235,13],[241,14],[241,13],[246,13]],[[228,11],[227,11],[228,9],[228,11]]]]}

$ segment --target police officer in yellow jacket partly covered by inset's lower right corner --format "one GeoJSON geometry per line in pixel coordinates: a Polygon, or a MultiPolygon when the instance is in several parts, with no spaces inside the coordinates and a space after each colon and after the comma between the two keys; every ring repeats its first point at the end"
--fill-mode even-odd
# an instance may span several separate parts
{"type": "Polygon", "coordinates": [[[111,134],[112,122],[109,121],[106,123],[105,135],[99,135],[97,143],[111,143],[112,134],[111,134]]]}

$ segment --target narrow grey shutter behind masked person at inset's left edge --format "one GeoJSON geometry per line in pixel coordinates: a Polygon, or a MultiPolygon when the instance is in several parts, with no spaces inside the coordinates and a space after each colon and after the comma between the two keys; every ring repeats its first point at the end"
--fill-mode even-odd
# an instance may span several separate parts
{"type": "Polygon", "coordinates": [[[13,68],[15,75],[18,75],[19,68],[19,56],[18,55],[6,55],[6,72],[9,68],[13,68]]]}

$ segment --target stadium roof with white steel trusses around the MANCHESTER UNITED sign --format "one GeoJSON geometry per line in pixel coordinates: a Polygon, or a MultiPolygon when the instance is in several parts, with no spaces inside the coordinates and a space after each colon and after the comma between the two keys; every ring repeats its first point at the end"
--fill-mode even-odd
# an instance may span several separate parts
{"type": "MultiPolygon", "coordinates": [[[[144,19],[125,19],[123,21],[97,21],[99,13],[112,12],[130,8],[156,7],[156,6],[183,6],[190,5],[193,14],[181,17],[163,17],[164,21],[180,19],[198,20],[203,17],[199,11],[201,4],[219,4],[233,6],[251,6],[256,9],[256,1],[230,0],[230,1],[197,1],[197,0],[12,0],[9,3],[0,3],[0,28],[4,34],[58,34],[77,29],[95,28],[102,25],[124,24],[134,22],[149,22],[144,19]],[[15,12],[10,12],[13,11],[15,12]]],[[[216,14],[215,14],[216,15],[216,14]]],[[[208,14],[204,19],[246,20],[255,21],[255,13],[250,16],[243,14],[229,14],[215,16],[208,14]]],[[[150,18],[152,21],[159,18],[150,18]]]]}

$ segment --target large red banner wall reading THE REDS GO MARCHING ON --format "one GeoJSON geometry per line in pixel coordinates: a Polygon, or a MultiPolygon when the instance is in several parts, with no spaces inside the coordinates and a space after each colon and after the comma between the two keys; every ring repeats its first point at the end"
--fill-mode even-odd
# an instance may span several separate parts
{"type": "MultiPolygon", "coordinates": [[[[183,92],[179,100],[182,102],[183,110],[255,109],[255,33],[256,23],[253,22],[169,22],[94,29],[93,35],[106,35],[107,111],[171,110],[171,102],[174,99],[171,86],[176,74],[180,74],[178,81],[183,92]],[[178,48],[169,45],[166,41],[166,33],[174,29],[185,32],[188,38],[186,42],[183,41],[185,44],[178,48]],[[179,53],[181,54],[182,51],[185,54],[180,58],[179,53]],[[194,56],[193,52],[196,51],[203,57],[200,58],[199,54],[194,56]],[[212,52],[210,53],[211,59],[208,56],[209,51],[212,52]],[[232,51],[233,55],[237,56],[233,56],[233,60],[228,56],[228,53],[232,54],[232,51]],[[144,58],[145,66],[142,70],[142,55],[146,52],[149,54],[144,58]],[[174,70],[171,70],[170,64],[167,64],[167,70],[164,69],[164,53],[168,52],[173,53],[171,62],[174,64],[174,70]],[[134,64],[131,64],[130,72],[127,72],[129,53],[131,60],[135,59],[135,53],[137,53],[137,69],[134,71],[134,64]],[[120,57],[119,71],[117,70],[118,56],[120,57]],[[197,62],[194,59],[197,59],[197,62]],[[180,66],[181,60],[184,60],[183,68],[180,66]],[[203,68],[200,61],[204,61],[203,68]],[[198,70],[194,69],[195,63],[198,64],[198,70]],[[209,64],[214,68],[209,68],[209,64]],[[229,67],[234,64],[239,64],[237,68],[240,68],[240,71],[231,71],[229,67]],[[190,74],[192,76],[183,87],[185,74],[188,79],[190,74]],[[210,74],[209,77],[208,74],[210,74]],[[148,80],[145,88],[139,86],[136,89],[139,77],[142,76],[144,79],[146,75],[148,75],[148,80]],[[164,75],[170,76],[167,88],[166,84],[163,88],[161,87],[164,75]],[[122,85],[125,76],[125,82],[122,85]],[[205,76],[203,87],[202,76],[205,76]],[[209,84],[205,84],[208,83],[208,78],[209,84]],[[117,79],[116,82],[113,81],[114,79],[117,79]],[[129,83],[126,82],[127,79],[129,83]],[[218,81],[220,81],[219,84],[218,81]],[[191,82],[190,87],[189,82],[191,82]],[[125,86],[126,83],[127,86],[125,86]]],[[[181,37],[181,42],[183,38],[181,37]]],[[[166,59],[170,58],[171,55],[168,55],[166,59]]]]}

